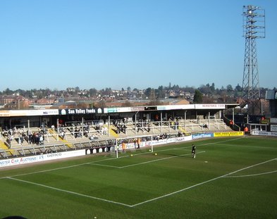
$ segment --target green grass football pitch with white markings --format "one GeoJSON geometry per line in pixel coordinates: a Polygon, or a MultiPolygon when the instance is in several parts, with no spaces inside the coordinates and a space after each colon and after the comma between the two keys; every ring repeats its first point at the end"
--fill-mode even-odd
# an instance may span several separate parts
{"type": "Polygon", "coordinates": [[[276,218],[277,139],[213,138],[2,168],[0,194],[0,218],[276,218]]]}

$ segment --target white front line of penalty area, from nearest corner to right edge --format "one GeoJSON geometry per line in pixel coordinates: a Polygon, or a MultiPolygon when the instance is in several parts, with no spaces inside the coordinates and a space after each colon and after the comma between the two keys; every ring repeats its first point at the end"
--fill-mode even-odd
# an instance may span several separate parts
{"type": "Polygon", "coordinates": [[[271,161],[273,161],[273,160],[276,160],[276,158],[273,158],[273,159],[271,159],[271,160],[269,160],[269,161],[264,161],[264,162],[261,162],[261,163],[257,163],[257,164],[254,164],[254,165],[250,165],[250,166],[248,166],[248,167],[246,167],[246,168],[242,168],[242,169],[240,169],[240,170],[235,170],[235,171],[233,171],[233,172],[231,172],[231,173],[227,173],[227,174],[225,174],[225,175],[221,175],[221,176],[219,176],[219,177],[215,177],[215,178],[213,178],[213,179],[211,179],[211,180],[207,180],[207,181],[204,181],[204,182],[200,182],[200,183],[198,183],[198,184],[194,184],[194,185],[192,185],[192,186],[190,186],[190,187],[186,187],[186,188],[184,188],[184,189],[180,189],[180,190],[178,190],[178,191],[176,191],[176,192],[171,192],[171,193],[165,194],[165,195],[163,195],[163,196],[158,196],[158,197],[156,197],[156,198],[154,198],[154,199],[149,199],[149,200],[147,200],[147,201],[142,201],[142,202],[140,202],[140,203],[134,204],[134,205],[131,206],[131,207],[133,208],[133,207],[135,207],[135,206],[139,206],[139,205],[141,205],[141,204],[148,203],[148,202],[150,202],[150,201],[155,201],[155,200],[157,200],[157,199],[162,199],[162,198],[164,198],[164,197],[166,197],[166,196],[171,196],[171,195],[173,195],[173,194],[177,194],[177,193],[179,193],[179,192],[183,192],[183,191],[185,191],[185,190],[187,190],[187,189],[192,189],[192,188],[194,188],[194,187],[197,187],[197,186],[199,186],[199,185],[205,184],[205,183],[207,183],[207,182],[211,182],[211,181],[214,181],[214,180],[218,180],[218,179],[223,178],[223,177],[226,177],[226,176],[228,176],[228,175],[232,175],[233,173],[238,173],[238,172],[240,172],[240,171],[242,171],[242,170],[246,170],[246,169],[248,169],[248,168],[252,168],[252,167],[254,167],[254,166],[256,166],[256,165],[261,165],[261,164],[264,164],[264,163],[268,163],[268,162],[271,162],[271,161]]]}

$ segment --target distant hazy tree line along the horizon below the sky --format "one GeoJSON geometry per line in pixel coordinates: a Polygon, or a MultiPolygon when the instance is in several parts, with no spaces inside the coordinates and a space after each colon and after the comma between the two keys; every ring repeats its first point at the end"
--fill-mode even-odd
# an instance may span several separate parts
{"type": "MultiPolygon", "coordinates": [[[[275,87],[273,89],[276,89],[275,87]]],[[[260,87],[261,92],[261,98],[264,98],[266,93],[266,88],[260,87]]],[[[127,87],[124,89],[123,87],[121,90],[118,90],[123,96],[128,96],[130,94],[139,94],[137,97],[140,97],[142,99],[147,98],[151,100],[155,99],[164,99],[166,97],[166,94],[168,92],[187,92],[190,94],[194,94],[194,96],[197,96],[197,99],[199,101],[200,96],[209,96],[209,97],[216,97],[216,96],[232,96],[233,98],[238,98],[242,95],[242,87],[238,84],[233,88],[232,85],[227,85],[226,87],[216,88],[214,85],[214,82],[211,83],[211,85],[208,83],[207,85],[200,85],[199,87],[180,87],[179,85],[173,85],[171,86],[171,83],[169,83],[168,86],[159,86],[158,88],[152,88],[148,87],[147,89],[131,89],[130,87],[127,87]]],[[[30,89],[30,90],[24,90],[24,89],[16,89],[11,90],[9,88],[6,88],[3,92],[0,92],[0,95],[14,95],[18,94],[21,96],[25,96],[26,98],[34,98],[34,96],[37,99],[47,98],[51,96],[63,96],[63,97],[87,97],[92,98],[95,96],[104,96],[104,95],[111,95],[113,93],[113,90],[111,87],[106,87],[105,89],[80,89],[80,87],[68,87],[66,90],[58,90],[54,89],[51,90],[49,88],[46,89],[30,89]]],[[[178,97],[178,96],[177,96],[178,97]]],[[[197,99],[194,98],[194,101],[197,101],[197,99]]],[[[201,98],[200,98],[201,99],[201,98]]]]}

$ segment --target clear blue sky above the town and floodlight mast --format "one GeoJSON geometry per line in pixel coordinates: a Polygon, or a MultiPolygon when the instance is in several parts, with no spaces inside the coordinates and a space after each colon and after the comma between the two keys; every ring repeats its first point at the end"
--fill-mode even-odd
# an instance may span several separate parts
{"type": "Polygon", "coordinates": [[[242,85],[242,6],[266,10],[260,87],[277,87],[276,0],[1,0],[0,90],[242,85]]]}

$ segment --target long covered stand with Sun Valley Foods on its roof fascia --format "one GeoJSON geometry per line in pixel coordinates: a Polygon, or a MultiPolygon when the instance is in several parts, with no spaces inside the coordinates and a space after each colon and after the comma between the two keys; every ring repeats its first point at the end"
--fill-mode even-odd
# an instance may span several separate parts
{"type": "Polygon", "coordinates": [[[0,113],[0,157],[96,148],[137,136],[228,132],[221,111],[236,104],[53,108],[0,113]],[[209,118],[209,119],[207,119],[209,118]]]}

